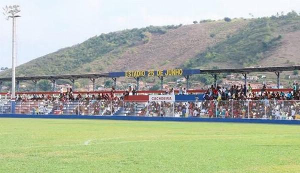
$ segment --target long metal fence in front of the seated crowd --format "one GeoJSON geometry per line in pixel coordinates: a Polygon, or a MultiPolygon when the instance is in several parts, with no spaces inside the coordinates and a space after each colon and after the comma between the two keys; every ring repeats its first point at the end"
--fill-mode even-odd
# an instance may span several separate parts
{"type": "MultiPolygon", "coordinates": [[[[11,102],[1,100],[0,113],[11,112],[11,102]]],[[[298,119],[300,101],[16,101],[15,113],[298,119]]]]}

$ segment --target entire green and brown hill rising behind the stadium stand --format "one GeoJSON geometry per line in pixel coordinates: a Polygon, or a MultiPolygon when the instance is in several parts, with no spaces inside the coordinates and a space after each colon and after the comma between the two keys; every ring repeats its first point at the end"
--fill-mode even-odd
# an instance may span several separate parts
{"type": "MultiPolygon", "coordinates": [[[[295,64],[299,43],[300,16],[294,11],[230,22],[148,26],[93,36],[19,65],[16,75],[295,64]]],[[[8,69],[0,76],[10,73],[8,69]]],[[[199,79],[210,82],[208,76],[199,79]]]]}

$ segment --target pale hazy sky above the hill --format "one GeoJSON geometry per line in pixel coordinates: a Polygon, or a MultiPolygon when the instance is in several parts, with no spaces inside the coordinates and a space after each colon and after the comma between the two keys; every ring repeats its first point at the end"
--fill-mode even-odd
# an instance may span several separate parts
{"type": "MultiPolygon", "coordinates": [[[[300,12],[300,0],[0,0],[18,4],[20,65],[89,37],[134,27],[191,24],[193,20],[300,12]]],[[[11,67],[12,22],[0,12],[0,67],[11,67]]]]}

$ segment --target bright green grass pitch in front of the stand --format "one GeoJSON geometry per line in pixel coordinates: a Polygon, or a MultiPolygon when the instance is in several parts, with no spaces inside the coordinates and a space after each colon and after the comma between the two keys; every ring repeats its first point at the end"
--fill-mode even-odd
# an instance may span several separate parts
{"type": "Polygon", "coordinates": [[[299,172],[300,126],[0,118],[0,172],[299,172]]]}

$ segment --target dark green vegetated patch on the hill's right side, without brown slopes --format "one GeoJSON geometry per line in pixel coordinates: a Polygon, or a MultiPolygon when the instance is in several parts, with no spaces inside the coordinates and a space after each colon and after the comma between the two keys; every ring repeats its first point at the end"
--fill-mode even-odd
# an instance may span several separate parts
{"type": "Polygon", "coordinates": [[[282,34],[299,29],[300,16],[294,11],[286,15],[253,19],[247,27],[233,35],[227,35],[226,40],[215,46],[207,47],[183,66],[212,67],[209,63],[235,67],[258,65],[261,59],[281,44],[282,34]]]}

